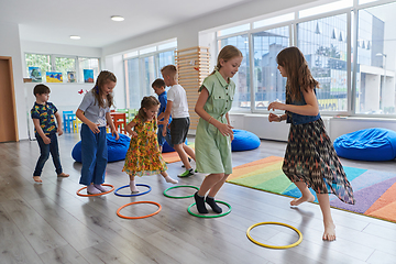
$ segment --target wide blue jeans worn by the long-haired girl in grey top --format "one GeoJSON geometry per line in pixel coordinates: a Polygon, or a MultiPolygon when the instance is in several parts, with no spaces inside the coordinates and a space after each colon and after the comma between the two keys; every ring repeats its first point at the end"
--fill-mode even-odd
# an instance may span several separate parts
{"type": "Polygon", "coordinates": [[[108,162],[106,127],[100,127],[99,130],[98,134],[94,134],[87,124],[81,124],[81,185],[105,183],[108,162]]]}

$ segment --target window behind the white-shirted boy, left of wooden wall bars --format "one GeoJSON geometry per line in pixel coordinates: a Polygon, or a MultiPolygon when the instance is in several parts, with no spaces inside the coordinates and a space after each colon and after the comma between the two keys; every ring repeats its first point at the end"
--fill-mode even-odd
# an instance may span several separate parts
{"type": "Polygon", "coordinates": [[[139,109],[145,96],[154,95],[152,82],[162,78],[161,68],[175,64],[176,42],[168,42],[123,55],[127,108],[139,109]]]}

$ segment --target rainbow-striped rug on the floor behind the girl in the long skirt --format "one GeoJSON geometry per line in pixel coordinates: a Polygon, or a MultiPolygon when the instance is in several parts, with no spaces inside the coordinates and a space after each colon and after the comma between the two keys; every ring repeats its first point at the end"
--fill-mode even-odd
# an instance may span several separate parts
{"type": "MultiPolygon", "coordinates": [[[[300,197],[298,188],[282,172],[283,157],[270,156],[233,168],[228,183],[290,197],[300,197]]],[[[330,196],[334,208],[396,222],[396,174],[344,167],[356,204],[351,206],[330,196]]],[[[315,195],[315,193],[311,190],[315,195]]],[[[317,201],[317,200],[316,200],[317,201]]]]}

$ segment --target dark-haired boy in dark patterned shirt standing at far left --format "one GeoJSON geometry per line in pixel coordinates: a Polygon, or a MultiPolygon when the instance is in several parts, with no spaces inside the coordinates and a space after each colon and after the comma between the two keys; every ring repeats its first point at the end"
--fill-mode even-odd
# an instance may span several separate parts
{"type": "Polygon", "coordinates": [[[36,98],[34,106],[31,110],[31,117],[34,123],[34,134],[37,139],[40,146],[40,157],[33,173],[33,179],[36,183],[42,183],[41,174],[44,167],[45,162],[50,157],[50,153],[53,157],[53,162],[56,168],[56,174],[58,177],[68,177],[68,174],[63,173],[59,150],[57,143],[56,133],[59,135],[63,134],[62,130],[62,119],[56,107],[48,102],[50,99],[50,88],[45,85],[36,85],[33,89],[33,94],[36,98]],[[55,118],[58,127],[56,127],[55,118]]]}

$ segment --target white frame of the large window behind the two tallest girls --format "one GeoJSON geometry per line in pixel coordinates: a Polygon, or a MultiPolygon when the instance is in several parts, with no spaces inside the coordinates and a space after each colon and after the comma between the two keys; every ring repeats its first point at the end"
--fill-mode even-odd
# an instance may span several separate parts
{"type": "MultiPolygon", "coordinates": [[[[334,1],[337,2],[337,1],[334,1]]],[[[315,8],[315,7],[319,7],[319,6],[323,6],[327,4],[329,2],[321,2],[321,3],[314,3],[314,4],[307,4],[304,8],[295,8],[290,10],[285,10],[285,12],[276,12],[271,14],[266,14],[263,15],[261,18],[255,18],[252,19],[249,23],[250,25],[250,30],[248,31],[241,31],[234,34],[229,34],[229,35],[218,35],[218,32],[220,30],[224,31],[228,28],[226,26],[221,26],[221,28],[217,28],[216,30],[213,30],[215,32],[215,42],[218,43],[219,41],[223,40],[223,38],[228,38],[228,37],[232,37],[232,36],[239,36],[239,35],[244,35],[248,34],[248,40],[249,40],[249,56],[250,56],[250,82],[253,85],[254,80],[254,75],[253,75],[253,70],[254,70],[254,43],[253,43],[253,34],[257,33],[257,32],[263,32],[263,31],[267,31],[267,30],[272,30],[272,29],[276,29],[276,28],[280,28],[280,26],[289,26],[289,45],[297,45],[298,44],[298,34],[297,34],[297,28],[299,23],[304,23],[304,22],[308,22],[308,21],[312,21],[312,20],[318,20],[318,19],[322,19],[322,18],[329,18],[329,16],[334,16],[334,15],[339,15],[339,14],[345,14],[346,15],[346,109],[344,111],[329,111],[329,110],[323,110],[321,111],[321,113],[323,116],[351,116],[351,117],[359,117],[359,118],[385,118],[385,119],[395,119],[396,114],[364,114],[364,113],[356,113],[356,85],[358,85],[358,50],[355,50],[355,52],[352,53],[352,47],[358,47],[358,34],[359,34],[359,11],[360,10],[364,10],[364,9],[370,9],[370,8],[375,8],[375,7],[380,7],[380,6],[384,6],[384,4],[388,4],[388,3],[395,3],[395,1],[393,0],[377,0],[377,1],[372,1],[372,2],[366,2],[366,3],[362,3],[359,4],[359,0],[353,0],[353,6],[352,7],[346,7],[346,8],[342,8],[339,10],[332,10],[329,12],[322,12],[322,13],[318,13],[318,14],[312,14],[312,15],[307,15],[304,18],[299,18],[299,12],[309,8],[315,8]],[[280,23],[274,23],[274,24],[268,24],[265,26],[261,26],[261,28],[254,28],[254,23],[262,21],[262,20],[266,20],[266,19],[271,19],[271,18],[276,18],[276,16],[280,16],[287,13],[294,12],[295,13],[295,19],[290,20],[290,21],[285,21],[285,22],[280,22],[280,23]]],[[[241,21],[240,23],[242,24],[246,24],[245,21],[241,21]]],[[[235,28],[238,26],[235,23],[233,23],[232,25],[230,25],[229,28],[235,28]]],[[[219,53],[218,51],[218,45],[216,45],[215,48],[216,54],[219,53]]],[[[254,85],[253,85],[254,86],[254,85]]],[[[268,113],[267,110],[257,110],[255,109],[255,98],[254,98],[254,87],[251,87],[251,108],[250,110],[248,109],[238,109],[238,110],[231,110],[231,112],[233,113],[268,113]]],[[[396,106],[395,106],[396,107],[396,106]]]]}

